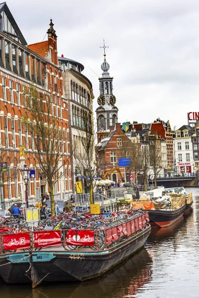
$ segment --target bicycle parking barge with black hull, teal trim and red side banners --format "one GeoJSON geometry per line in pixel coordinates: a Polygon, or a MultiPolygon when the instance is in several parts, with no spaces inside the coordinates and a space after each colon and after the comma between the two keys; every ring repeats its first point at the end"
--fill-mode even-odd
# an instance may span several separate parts
{"type": "MultiPolygon", "coordinates": [[[[64,231],[68,235],[70,230],[64,231]]],[[[66,250],[68,236],[62,239],[63,245],[56,248],[6,253],[1,248],[0,277],[6,283],[32,283],[32,288],[42,281],[72,282],[97,278],[143,247],[150,231],[148,212],[137,212],[123,224],[94,230],[97,239],[99,233],[104,234],[104,248],[101,250],[98,245],[95,251],[89,246],[66,250]]],[[[34,236],[30,239],[35,241],[34,236]]],[[[0,240],[2,247],[3,234],[0,240]]],[[[31,247],[34,247],[34,243],[31,243],[31,247]]]]}

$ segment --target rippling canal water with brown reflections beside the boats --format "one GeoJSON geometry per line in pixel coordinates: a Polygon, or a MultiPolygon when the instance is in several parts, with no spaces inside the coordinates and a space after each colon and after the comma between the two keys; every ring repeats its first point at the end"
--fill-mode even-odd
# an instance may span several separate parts
{"type": "Polygon", "coordinates": [[[102,277],[85,283],[0,283],[0,298],[199,298],[199,188],[193,212],[168,228],[152,229],[145,247],[102,277]]]}

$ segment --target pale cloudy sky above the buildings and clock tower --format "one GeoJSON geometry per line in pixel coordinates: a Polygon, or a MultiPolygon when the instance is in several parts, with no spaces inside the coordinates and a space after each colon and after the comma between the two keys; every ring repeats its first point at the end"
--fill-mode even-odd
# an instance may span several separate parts
{"type": "MultiPolygon", "coordinates": [[[[103,38],[118,120],[187,124],[199,111],[199,1],[7,0],[28,44],[53,19],[58,55],[81,62],[97,108],[103,38]],[[96,73],[94,73],[92,70],[96,73]]],[[[46,39],[46,37],[45,37],[46,39]]]]}

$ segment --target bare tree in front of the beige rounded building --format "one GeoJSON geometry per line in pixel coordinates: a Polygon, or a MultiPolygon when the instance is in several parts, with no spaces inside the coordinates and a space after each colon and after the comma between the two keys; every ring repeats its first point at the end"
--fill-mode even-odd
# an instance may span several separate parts
{"type": "Polygon", "coordinates": [[[95,134],[93,127],[93,115],[89,111],[83,111],[83,130],[79,133],[80,144],[73,143],[73,156],[79,172],[87,181],[90,189],[91,204],[94,203],[93,192],[96,186],[97,167],[95,160],[95,134]]]}

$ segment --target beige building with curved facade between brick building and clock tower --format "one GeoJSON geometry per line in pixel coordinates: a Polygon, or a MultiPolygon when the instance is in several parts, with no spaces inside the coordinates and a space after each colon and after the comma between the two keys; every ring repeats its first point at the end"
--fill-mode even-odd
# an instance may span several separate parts
{"type": "MultiPolygon", "coordinates": [[[[68,100],[68,113],[69,113],[69,132],[70,144],[72,151],[76,150],[77,153],[84,151],[82,145],[82,137],[84,137],[84,112],[92,114],[93,121],[93,86],[91,81],[82,74],[84,66],[74,60],[65,58],[63,55],[58,57],[59,66],[64,71],[63,73],[63,86],[68,100]]],[[[95,152],[95,150],[93,150],[95,152]]],[[[95,155],[93,161],[95,160],[95,155]]],[[[94,162],[92,167],[94,167],[94,162]]],[[[86,175],[86,171],[85,171],[86,175]]],[[[83,190],[87,190],[87,179],[80,173],[74,155],[71,156],[71,178],[72,189],[76,192],[76,182],[81,181],[83,190]]]]}

